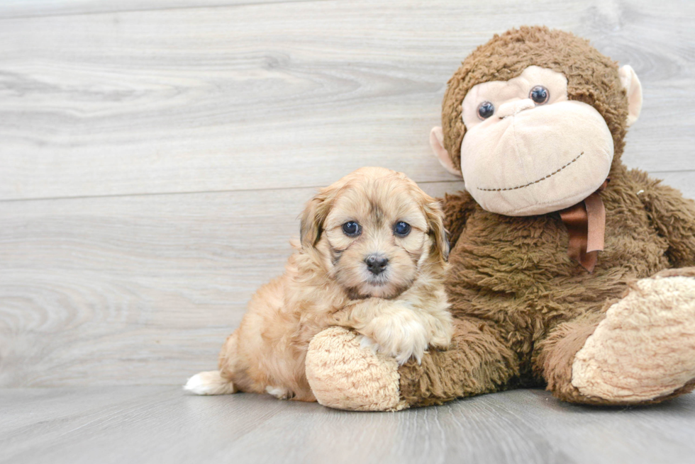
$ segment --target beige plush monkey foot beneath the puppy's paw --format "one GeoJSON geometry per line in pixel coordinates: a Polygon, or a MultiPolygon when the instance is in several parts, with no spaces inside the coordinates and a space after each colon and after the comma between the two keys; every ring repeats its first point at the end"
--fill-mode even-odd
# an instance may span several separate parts
{"type": "Polygon", "coordinates": [[[351,411],[397,411],[407,404],[399,392],[394,358],[360,346],[343,327],[317,334],[306,353],[306,378],[323,406],[351,411]]]}

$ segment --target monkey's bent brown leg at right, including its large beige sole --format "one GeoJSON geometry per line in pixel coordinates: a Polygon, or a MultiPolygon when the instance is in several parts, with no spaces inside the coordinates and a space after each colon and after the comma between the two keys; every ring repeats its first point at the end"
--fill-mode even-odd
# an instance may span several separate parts
{"type": "Polygon", "coordinates": [[[695,268],[630,285],[603,313],[557,326],[538,346],[535,369],[561,400],[661,402],[695,387],[695,268]]]}

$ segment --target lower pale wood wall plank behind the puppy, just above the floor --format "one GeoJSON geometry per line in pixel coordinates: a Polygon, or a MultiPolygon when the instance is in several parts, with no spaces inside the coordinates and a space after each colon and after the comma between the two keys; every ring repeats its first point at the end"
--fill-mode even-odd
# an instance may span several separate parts
{"type": "Polygon", "coordinates": [[[214,368],[313,192],[0,202],[0,385],[176,385],[214,368]]]}

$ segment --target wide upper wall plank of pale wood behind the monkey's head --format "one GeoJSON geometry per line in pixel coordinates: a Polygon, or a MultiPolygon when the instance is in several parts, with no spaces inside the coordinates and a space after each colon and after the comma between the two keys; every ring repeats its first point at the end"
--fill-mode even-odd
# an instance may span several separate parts
{"type": "Polygon", "coordinates": [[[693,171],[694,17],[687,0],[360,0],[6,18],[0,199],[321,186],[375,164],[451,180],[427,142],[445,82],[524,23],[632,64],[626,162],[693,171]]]}

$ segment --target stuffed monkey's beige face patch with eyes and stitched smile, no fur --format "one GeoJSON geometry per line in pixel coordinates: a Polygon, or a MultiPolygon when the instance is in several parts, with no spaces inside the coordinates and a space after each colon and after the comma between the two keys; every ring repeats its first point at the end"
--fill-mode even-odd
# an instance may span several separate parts
{"type": "Polygon", "coordinates": [[[462,117],[466,189],[492,213],[568,208],[596,191],[611,169],[606,121],[593,106],[568,99],[560,72],[530,66],[514,79],[473,86],[462,117]]]}

